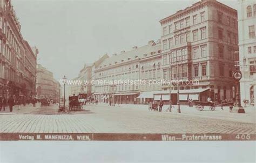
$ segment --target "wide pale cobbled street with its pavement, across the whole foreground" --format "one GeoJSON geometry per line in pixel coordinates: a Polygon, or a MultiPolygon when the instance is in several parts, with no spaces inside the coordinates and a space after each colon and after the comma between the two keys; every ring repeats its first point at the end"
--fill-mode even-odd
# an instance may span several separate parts
{"type": "Polygon", "coordinates": [[[0,112],[1,133],[223,133],[255,134],[255,109],[246,114],[217,107],[181,106],[181,113],[149,111],[147,105],[89,104],[83,111],[58,113],[57,105],[0,112]]]}

